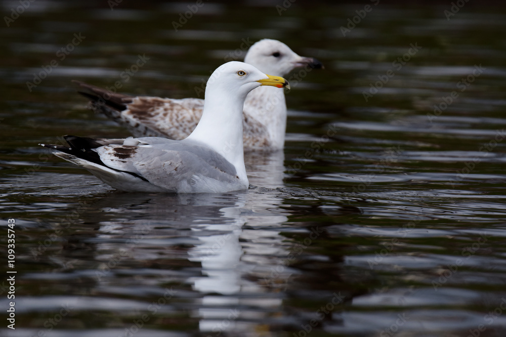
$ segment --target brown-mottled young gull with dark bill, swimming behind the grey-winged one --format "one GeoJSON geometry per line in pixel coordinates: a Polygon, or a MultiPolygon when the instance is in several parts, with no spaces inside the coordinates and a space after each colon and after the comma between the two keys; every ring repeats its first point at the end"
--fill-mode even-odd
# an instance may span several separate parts
{"type": "MultiPolygon", "coordinates": [[[[286,44],[271,39],[251,45],[244,62],[274,76],[284,76],[297,67],[306,67],[306,70],[323,67],[318,60],[301,57],[286,44]]],[[[202,116],[202,99],[132,97],[80,81],[74,82],[86,90],[80,93],[90,99],[95,112],[103,113],[125,126],[136,137],[184,139],[195,129],[202,116]]],[[[258,87],[247,95],[242,120],[245,151],[283,149],[286,130],[283,91],[258,87]]]]}

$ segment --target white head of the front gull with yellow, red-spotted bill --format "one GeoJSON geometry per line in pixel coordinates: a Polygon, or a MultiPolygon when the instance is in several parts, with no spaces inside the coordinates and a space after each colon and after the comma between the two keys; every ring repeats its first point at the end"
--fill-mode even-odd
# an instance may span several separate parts
{"type": "Polygon", "coordinates": [[[208,91],[214,90],[245,99],[249,91],[261,85],[290,88],[288,81],[282,77],[267,75],[244,62],[231,61],[218,67],[209,77],[205,89],[206,100],[208,91]]]}

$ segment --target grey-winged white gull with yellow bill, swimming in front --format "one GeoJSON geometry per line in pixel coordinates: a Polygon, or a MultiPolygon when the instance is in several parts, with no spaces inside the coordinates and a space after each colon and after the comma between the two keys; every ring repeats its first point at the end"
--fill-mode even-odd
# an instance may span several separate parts
{"type": "MultiPolygon", "coordinates": [[[[68,146],[40,144],[123,191],[227,192],[248,188],[242,142],[242,107],[256,87],[288,87],[278,76],[232,61],[207,81],[202,118],[182,140],[65,136],[68,146]]],[[[277,90],[272,89],[271,90],[277,90]]]]}

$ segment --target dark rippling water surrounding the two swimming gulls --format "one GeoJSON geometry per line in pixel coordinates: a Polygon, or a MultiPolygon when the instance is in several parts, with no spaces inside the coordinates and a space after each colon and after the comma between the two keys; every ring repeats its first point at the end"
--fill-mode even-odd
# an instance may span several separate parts
{"type": "Polygon", "coordinates": [[[506,335],[506,8],[456,3],[37,0],[4,18],[0,334],[506,335]],[[196,97],[264,37],[325,69],[287,76],[284,154],[247,157],[248,191],[120,193],[37,146],[128,136],[71,79],[196,97]]]}

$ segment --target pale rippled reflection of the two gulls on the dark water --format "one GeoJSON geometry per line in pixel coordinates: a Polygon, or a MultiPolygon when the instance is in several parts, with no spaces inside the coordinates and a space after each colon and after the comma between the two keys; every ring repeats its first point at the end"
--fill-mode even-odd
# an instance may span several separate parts
{"type": "Polygon", "coordinates": [[[181,284],[179,289],[190,285],[198,294],[192,295],[190,306],[187,298],[178,295],[171,306],[189,310],[205,332],[243,331],[249,325],[258,326],[258,320],[268,312],[280,310],[282,297],[272,284],[286,283],[289,273],[276,273],[273,280],[272,271],[283,263],[289,247],[279,233],[288,215],[280,208],[283,153],[246,158],[247,191],[190,195],[111,192],[87,206],[80,216],[97,229],[94,259],[107,265],[111,257],[120,257],[110,270],[99,270],[102,277],[96,287],[107,292],[135,286],[139,294],[144,291],[149,295],[162,294],[162,284],[181,284]],[[125,246],[134,237],[138,237],[134,245],[125,246]],[[134,284],[121,277],[132,267],[137,268],[134,284]],[[245,310],[247,307],[262,308],[265,313],[245,310]],[[257,323],[250,322],[251,318],[257,323]]]}

